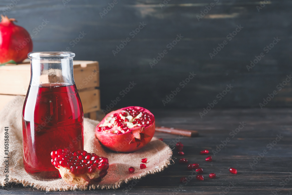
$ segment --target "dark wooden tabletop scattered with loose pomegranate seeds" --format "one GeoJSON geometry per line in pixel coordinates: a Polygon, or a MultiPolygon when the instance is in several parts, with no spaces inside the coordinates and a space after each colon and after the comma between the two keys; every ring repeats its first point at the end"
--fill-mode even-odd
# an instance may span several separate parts
{"type": "MultiPolygon", "coordinates": [[[[1,190],[0,194],[292,193],[292,109],[214,109],[203,119],[199,116],[202,109],[152,111],[157,125],[199,131],[199,137],[183,137],[180,141],[184,144],[183,157],[199,163],[204,169],[204,181],[192,178],[186,185],[180,183],[180,177],[190,176],[191,171],[187,170],[187,165],[178,163],[181,157],[174,149],[175,163],[169,168],[138,182],[124,184],[117,190],[45,192],[11,184],[9,191],[1,190]],[[240,123],[246,125],[237,134],[232,133],[240,123]],[[277,139],[280,136],[281,139],[277,139]],[[206,162],[206,156],[199,155],[202,149],[215,151],[226,138],[230,138],[226,146],[221,145],[221,151],[218,149],[215,155],[211,153],[212,162],[206,162]],[[260,157],[259,153],[264,150],[267,152],[260,157]],[[230,167],[237,168],[238,174],[231,174],[230,167]],[[217,174],[215,179],[208,177],[211,172],[217,174]]],[[[166,144],[175,139],[178,141],[175,135],[156,133],[155,136],[164,138],[166,144]]]]}

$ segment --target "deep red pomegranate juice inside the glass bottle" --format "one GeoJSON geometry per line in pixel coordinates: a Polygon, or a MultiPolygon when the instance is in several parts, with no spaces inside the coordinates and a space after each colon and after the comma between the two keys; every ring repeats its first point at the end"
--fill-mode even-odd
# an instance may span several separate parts
{"type": "Polygon", "coordinates": [[[37,179],[59,178],[51,151],[83,150],[83,110],[75,84],[29,85],[22,128],[26,172],[37,179]]]}

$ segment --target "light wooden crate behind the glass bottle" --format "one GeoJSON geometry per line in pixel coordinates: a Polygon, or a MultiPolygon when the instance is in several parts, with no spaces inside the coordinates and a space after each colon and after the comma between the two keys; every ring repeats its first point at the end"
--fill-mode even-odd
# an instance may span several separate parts
{"type": "MultiPolygon", "coordinates": [[[[100,110],[99,64],[97,61],[73,61],[73,73],[83,111],[95,120],[96,111],[100,110]]],[[[29,60],[18,65],[0,66],[0,110],[15,95],[25,96],[29,81],[29,60]]]]}

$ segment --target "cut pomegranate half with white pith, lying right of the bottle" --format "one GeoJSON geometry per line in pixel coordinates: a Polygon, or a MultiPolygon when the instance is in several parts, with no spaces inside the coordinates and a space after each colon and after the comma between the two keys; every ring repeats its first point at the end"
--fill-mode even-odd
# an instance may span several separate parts
{"type": "Polygon", "coordinates": [[[118,152],[142,148],[151,141],[154,132],[154,115],[139,106],[112,111],[95,128],[99,141],[105,147],[118,152]]]}

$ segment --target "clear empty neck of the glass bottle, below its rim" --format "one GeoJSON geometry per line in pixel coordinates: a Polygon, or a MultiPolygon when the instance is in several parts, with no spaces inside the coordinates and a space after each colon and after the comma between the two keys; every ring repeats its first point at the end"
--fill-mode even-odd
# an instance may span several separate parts
{"type": "Polygon", "coordinates": [[[33,58],[30,85],[74,84],[73,58],[33,58]]]}

